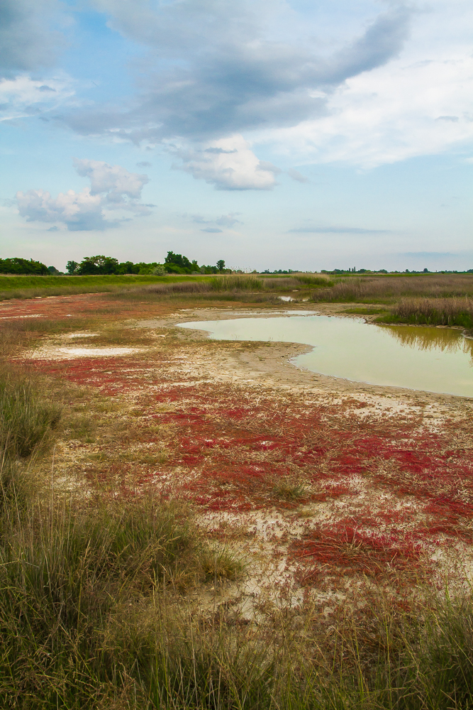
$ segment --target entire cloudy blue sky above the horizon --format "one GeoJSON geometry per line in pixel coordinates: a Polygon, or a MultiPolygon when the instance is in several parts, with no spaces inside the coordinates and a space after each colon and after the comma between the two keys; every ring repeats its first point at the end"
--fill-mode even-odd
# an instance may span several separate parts
{"type": "Polygon", "coordinates": [[[471,0],[0,0],[0,258],[473,268],[471,0]]]}

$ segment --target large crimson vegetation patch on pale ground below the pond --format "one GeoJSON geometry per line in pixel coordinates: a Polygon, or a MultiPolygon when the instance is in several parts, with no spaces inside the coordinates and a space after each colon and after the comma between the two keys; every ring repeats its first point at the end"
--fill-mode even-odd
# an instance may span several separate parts
{"type": "Polygon", "coordinates": [[[179,354],[30,363],[104,396],[133,398],[138,443],[166,449],[162,464],[92,468],[92,483],[113,479],[120,489],[122,481],[127,491],[135,476],[138,485],[169,486],[209,513],[276,509],[284,516],[302,503],[315,518],[323,506],[325,522],[307,523],[289,544],[289,568],[303,586],[340,588],[347,577],[412,583],[428,574],[425,550],[473,543],[473,448],[453,443],[459,432],[467,439],[469,422],[447,421],[433,433],[421,417],[360,419],[311,395],[197,384],[179,371],[179,354]]]}

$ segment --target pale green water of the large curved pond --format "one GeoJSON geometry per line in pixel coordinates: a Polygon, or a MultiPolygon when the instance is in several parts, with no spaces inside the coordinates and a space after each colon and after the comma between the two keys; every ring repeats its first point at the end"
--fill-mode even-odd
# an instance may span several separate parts
{"type": "Polygon", "coordinates": [[[473,340],[452,329],[379,326],[320,315],[184,323],[216,340],[312,345],[292,362],[357,382],[473,397],[473,340]]]}

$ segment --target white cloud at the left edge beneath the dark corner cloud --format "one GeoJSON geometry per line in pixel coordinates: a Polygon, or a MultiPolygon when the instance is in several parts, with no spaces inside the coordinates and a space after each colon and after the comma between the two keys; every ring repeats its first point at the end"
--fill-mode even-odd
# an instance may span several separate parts
{"type": "Polygon", "coordinates": [[[66,75],[43,80],[21,75],[0,80],[0,121],[44,114],[73,95],[72,81],[66,75]]]}

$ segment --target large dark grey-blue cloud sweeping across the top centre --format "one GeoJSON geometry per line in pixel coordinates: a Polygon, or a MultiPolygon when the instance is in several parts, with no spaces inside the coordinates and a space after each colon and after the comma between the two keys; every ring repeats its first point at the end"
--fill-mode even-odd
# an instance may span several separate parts
{"type": "MultiPolygon", "coordinates": [[[[148,46],[133,107],[74,111],[80,133],[135,142],[208,141],[245,129],[294,126],[325,110],[325,94],[347,78],[383,65],[408,36],[403,7],[380,13],[332,55],[299,35],[274,37],[281,0],[162,3],[94,0],[109,26],[148,46]],[[323,92],[320,92],[323,89],[323,92]],[[318,91],[319,90],[319,91],[318,91]]],[[[209,146],[218,147],[218,146],[209,146]]]]}

